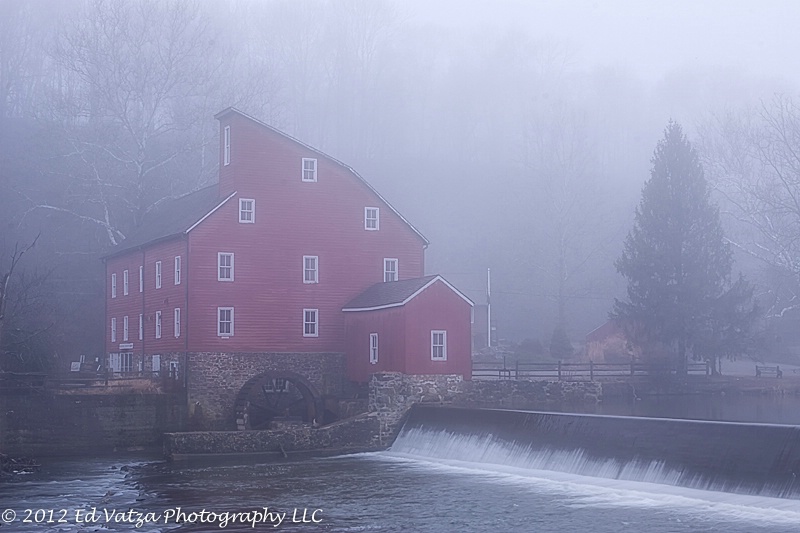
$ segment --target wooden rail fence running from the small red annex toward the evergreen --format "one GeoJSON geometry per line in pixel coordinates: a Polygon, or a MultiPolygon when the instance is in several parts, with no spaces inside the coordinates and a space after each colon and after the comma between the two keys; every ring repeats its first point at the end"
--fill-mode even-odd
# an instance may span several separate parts
{"type": "MultiPolygon", "coordinates": [[[[709,363],[689,363],[687,373],[691,375],[710,376],[709,363]]],[[[472,379],[557,379],[564,381],[597,381],[620,377],[655,377],[676,375],[675,367],[647,363],[528,363],[507,364],[472,363],[472,379]]]]}

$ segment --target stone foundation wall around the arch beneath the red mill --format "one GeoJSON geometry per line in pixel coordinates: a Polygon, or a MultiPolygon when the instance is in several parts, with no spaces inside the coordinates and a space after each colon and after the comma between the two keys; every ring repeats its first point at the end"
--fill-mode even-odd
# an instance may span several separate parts
{"type": "Polygon", "coordinates": [[[323,399],[350,396],[347,361],[341,353],[200,352],[189,353],[186,359],[189,411],[194,420],[202,412],[207,429],[235,429],[239,391],[265,372],[298,374],[323,399]]]}

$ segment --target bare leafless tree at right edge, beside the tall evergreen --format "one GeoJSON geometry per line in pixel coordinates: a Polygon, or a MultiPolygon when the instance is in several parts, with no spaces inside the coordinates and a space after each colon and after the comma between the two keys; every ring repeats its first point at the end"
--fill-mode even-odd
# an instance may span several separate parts
{"type": "Polygon", "coordinates": [[[800,107],[775,96],[713,117],[704,164],[735,224],[731,244],[767,267],[768,316],[800,309],[800,107]]]}

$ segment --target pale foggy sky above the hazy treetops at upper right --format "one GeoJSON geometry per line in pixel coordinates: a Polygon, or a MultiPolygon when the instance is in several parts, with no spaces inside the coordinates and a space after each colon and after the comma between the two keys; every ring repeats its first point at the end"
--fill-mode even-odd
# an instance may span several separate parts
{"type": "Polygon", "coordinates": [[[627,67],[657,80],[730,67],[800,82],[794,0],[407,0],[408,15],[452,28],[521,28],[568,44],[576,66],[627,67]]]}

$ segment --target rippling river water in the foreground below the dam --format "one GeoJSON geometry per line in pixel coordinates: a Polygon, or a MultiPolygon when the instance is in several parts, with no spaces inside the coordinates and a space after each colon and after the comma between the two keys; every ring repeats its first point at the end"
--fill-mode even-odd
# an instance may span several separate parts
{"type": "Polygon", "coordinates": [[[35,474],[0,482],[0,502],[16,513],[0,532],[800,529],[797,500],[434,461],[392,451],[227,465],[143,457],[53,461],[35,474]],[[265,507],[274,514],[265,514],[265,507]],[[239,523],[228,518],[223,524],[224,513],[248,512],[235,518],[239,523]]]}

